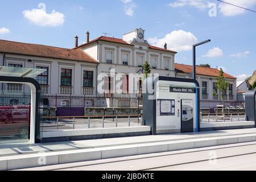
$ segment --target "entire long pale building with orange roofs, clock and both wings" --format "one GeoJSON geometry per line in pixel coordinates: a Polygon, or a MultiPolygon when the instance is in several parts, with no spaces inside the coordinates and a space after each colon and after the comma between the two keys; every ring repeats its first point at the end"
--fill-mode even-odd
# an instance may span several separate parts
{"type": "MultiPolygon", "coordinates": [[[[90,40],[87,32],[86,43],[79,46],[78,42],[79,38],[76,36],[75,48],[68,49],[0,40],[0,66],[45,69],[46,72],[36,77],[45,96],[137,97],[141,92],[141,80],[134,82],[128,74],[141,73],[145,61],[150,64],[151,73],[158,73],[159,76],[192,77],[191,65],[175,64],[177,52],[167,49],[167,44],[162,48],[148,44],[144,39],[142,28],[124,34],[122,39],[100,36],[90,40]],[[105,76],[98,79],[102,73],[105,76]],[[117,81],[115,75],[118,73],[122,73],[122,77],[121,93],[117,94],[114,92],[113,85],[117,81]],[[103,93],[98,92],[100,82],[103,82],[103,93]]],[[[196,69],[203,107],[211,107],[209,103],[220,100],[220,96],[213,95],[218,74],[218,69],[204,67],[196,69]]],[[[224,73],[224,77],[230,82],[224,99],[236,101],[236,78],[227,73],[224,73]]],[[[20,84],[1,84],[0,86],[7,92],[24,92],[27,89],[20,84]]],[[[84,102],[79,98],[78,100],[84,102]]],[[[49,102],[53,101],[45,101],[46,105],[51,105],[51,103],[48,104],[49,102]]],[[[70,101],[63,98],[58,102],[70,101]]],[[[101,104],[111,106],[108,101],[101,104]]],[[[94,106],[90,103],[88,105],[94,106]]],[[[124,105],[118,104],[118,106],[124,105]]]]}

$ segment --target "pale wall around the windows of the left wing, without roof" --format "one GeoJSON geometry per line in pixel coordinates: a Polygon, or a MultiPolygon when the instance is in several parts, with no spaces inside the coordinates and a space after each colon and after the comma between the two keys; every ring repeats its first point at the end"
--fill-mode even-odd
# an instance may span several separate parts
{"type": "Polygon", "coordinates": [[[6,54],[5,65],[7,66],[10,63],[22,64],[23,68],[36,68],[36,66],[48,67],[49,94],[60,93],[61,68],[72,69],[72,94],[82,95],[83,70],[94,72],[94,88],[96,86],[96,64],[93,63],[6,54]],[[28,59],[32,60],[32,62],[28,62],[28,59]]]}

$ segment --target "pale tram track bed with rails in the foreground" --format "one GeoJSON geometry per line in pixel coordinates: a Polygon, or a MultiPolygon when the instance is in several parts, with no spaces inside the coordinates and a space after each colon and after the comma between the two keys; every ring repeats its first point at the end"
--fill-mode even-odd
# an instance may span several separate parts
{"type": "Polygon", "coordinates": [[[59,164],[29,170],[256,170],[256,142],[59,164]]]}

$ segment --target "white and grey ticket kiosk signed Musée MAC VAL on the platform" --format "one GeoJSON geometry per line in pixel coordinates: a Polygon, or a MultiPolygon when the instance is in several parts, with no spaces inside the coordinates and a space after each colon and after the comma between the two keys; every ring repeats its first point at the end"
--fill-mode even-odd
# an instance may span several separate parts
{"type": "Polygon", "coordinates": [[[192,79],[147,78],[143,82],[143,122],[151,126],[152,134],[199,131],[199,98],[199,84],[192,79]]]}

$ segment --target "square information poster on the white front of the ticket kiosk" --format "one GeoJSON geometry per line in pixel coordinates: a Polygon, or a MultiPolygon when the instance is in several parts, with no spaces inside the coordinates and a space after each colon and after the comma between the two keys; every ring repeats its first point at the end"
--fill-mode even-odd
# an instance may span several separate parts
{"type": "Polygon", "coordinates": [[[158,100],[159,115],[175,115],[175,100],[158,100]]]}

